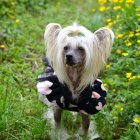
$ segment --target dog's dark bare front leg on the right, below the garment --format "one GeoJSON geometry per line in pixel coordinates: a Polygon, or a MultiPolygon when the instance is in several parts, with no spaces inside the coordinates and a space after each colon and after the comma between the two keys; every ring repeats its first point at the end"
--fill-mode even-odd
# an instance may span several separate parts
{"type": "Polygon", "coordinates": [[[90,117],[89,115],[85,115],[83,113],[81,113],[81,116],[82,116],[82,130],[84,134],[87,134],[90,125],[90,117]]]}

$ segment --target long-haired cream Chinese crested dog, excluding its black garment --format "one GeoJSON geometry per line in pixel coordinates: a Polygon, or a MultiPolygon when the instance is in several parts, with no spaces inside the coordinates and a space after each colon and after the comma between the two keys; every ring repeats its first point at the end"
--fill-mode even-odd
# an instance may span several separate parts
{"type": "MultiPolygon", "coordinates": [[[[92,33],[76,23],[66,28],[50,23],[46,26],[44,39],[46,56],[54,75],[62,85],[67,86],[72,100],[78,101],[81,93],[88,85],[93,85],[106,64],[113,45],[114,33],[105,27],[92,33]]],[[[92,96],[100,98],[98,93],[93,93],[92,96]]],[[[55,103],[56,126],[60,125],[62,110],[55,103]]],[[[80,110],[80,114],[83,132],[86,134],[90,124],[89,115],[83,110],[80,110]]]]}

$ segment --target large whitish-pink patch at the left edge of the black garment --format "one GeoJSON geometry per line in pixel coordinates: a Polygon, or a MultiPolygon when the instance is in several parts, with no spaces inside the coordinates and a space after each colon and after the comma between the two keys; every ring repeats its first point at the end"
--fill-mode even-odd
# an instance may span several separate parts
{"type": "Polygon", "coordinates": [[[39,82],[37,84],[37,90],[41,94],[49,95],[52,92],[52,90],[49,89],[52,85],[53,85],[53,83],[51,83],[49,81],[39,82]]]}

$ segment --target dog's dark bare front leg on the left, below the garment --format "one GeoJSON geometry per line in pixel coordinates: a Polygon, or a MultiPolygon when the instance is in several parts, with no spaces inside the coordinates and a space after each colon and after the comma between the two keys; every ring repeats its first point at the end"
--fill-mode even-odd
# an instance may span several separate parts
{"type": "Polygon", "coordinates": [[[56,128],[60,127],[62,109],[58,106],[54,107],[54,120],[56,128]]]}

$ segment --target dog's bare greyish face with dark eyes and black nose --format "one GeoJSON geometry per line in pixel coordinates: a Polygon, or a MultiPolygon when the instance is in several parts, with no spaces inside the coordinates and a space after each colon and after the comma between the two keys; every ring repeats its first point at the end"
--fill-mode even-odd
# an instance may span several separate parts
{"type": "Polygon", "coordinates": [[[69,66],[84,66],[85,49],[82,46],[67,45],[64,47],[64,62],[69,66]]]}

